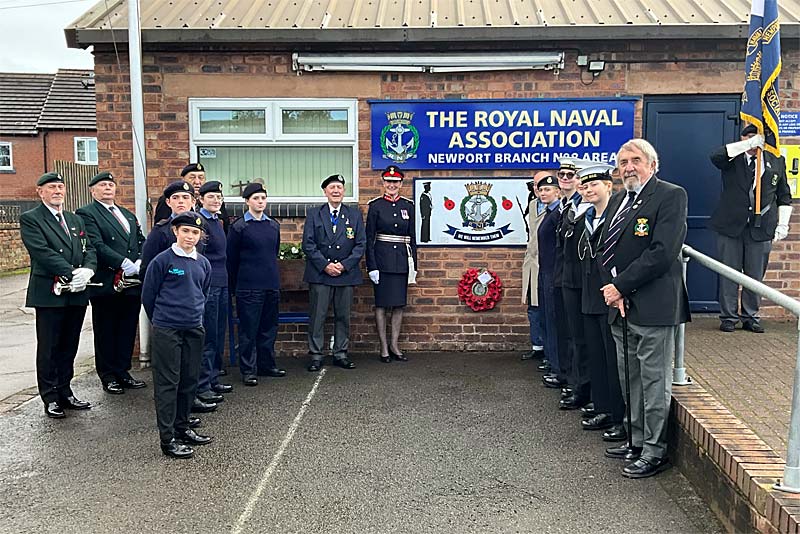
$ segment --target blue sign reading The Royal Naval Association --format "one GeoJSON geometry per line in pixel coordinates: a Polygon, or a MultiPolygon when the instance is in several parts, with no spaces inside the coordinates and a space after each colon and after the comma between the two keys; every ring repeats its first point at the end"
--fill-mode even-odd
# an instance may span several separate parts
{"type": "Polygon", "coordinates": [[[372,168],[548,169],[615,163],[635,99],[398,100],[372,106],[372,168]]]}

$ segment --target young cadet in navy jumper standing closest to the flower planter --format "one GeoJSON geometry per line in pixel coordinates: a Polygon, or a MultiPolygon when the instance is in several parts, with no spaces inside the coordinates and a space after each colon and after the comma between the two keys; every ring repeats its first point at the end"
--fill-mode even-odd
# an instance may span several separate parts
{"type": "Polygon", "coordinates": [[[228,233],[228,274],[239,315],[239,368],[244,385],[255,386],[257,375],[286,375],[275,363],[281,229],[277,221],[264,213],[267,191],[263,185],[249,184],[242,197],[247,212],[233,223],[228,233]]]}

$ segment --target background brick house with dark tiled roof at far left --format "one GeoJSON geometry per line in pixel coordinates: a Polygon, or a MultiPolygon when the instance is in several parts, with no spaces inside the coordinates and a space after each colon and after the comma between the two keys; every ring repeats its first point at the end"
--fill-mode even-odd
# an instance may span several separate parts
{"type": "Polygon", "coordinates": [[[0,73],[0,199],[36,199],[54,161],[97,164],[91,71],[0,73]]]}

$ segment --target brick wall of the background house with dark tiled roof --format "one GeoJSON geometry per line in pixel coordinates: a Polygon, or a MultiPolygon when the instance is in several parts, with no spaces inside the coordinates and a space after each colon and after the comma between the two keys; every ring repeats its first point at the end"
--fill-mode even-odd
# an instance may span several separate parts
{"type": "Polygon", "coordinates": [[[0,199],[37,199],[36,180],[39,176],[52,171],[55,160],[75,161],[75,137],[94,136],[94,130],[49,131],[45,156],[43,132],[37,136],[0,135],[0,141],[11,143],[14,159],[13,172],[0,171],[0,199]]]}

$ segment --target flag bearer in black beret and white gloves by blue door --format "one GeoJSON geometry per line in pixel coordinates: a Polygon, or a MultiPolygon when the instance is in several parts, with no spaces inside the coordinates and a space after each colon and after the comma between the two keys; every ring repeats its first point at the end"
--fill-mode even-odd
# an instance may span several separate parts
{"type": "MultiPolygon", "coordinates": [[[[711,163],[722,171],[722,194],[711,215],[709,226],[717,232],[719,260],[759,282],[769,264],[773,241],[789,233],[792,215],[792,192],[786,180],[786,160],[766,150],[761,151],[761,214],[755,215],[755,172],[758,148],[764,137],[749,124],[742,129],[741,141],[729,143],[711,154],[711,163]]],[[[744,330],[764,332],[758,316],[760,297],[739,285],[719,277],[720,326],[733,332],[741,321],[744,330]]]]}

